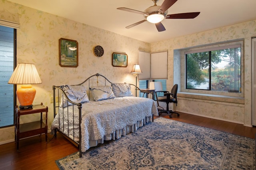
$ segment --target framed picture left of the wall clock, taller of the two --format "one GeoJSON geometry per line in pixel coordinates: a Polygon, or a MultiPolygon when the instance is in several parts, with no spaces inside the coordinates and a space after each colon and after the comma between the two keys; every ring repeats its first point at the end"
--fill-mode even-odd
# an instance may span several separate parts
{"type": "Polygon", "coordinates": [[[59,64],[62,67],[78,66],[78,42],[71,39],[59,39],[59,64]]]}

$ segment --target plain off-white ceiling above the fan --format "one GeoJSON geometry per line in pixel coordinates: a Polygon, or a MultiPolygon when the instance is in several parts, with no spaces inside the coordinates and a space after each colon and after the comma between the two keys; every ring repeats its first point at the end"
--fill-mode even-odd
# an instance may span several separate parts
{"type": "MultiPolygon", "coordinates": [[[[168,14],[201,12],[194,19],[164,19],[166,31],[158,32],[153,23],[144,22],[142,14],[117,10],[126,7],[144,11],[151,0],[9,0],[30,8],[105,29],[148,43],[256,19],[256,0],[178,0],[168,14]]],[[[159,0],[158,6],[164,0],[159,0]]]]}

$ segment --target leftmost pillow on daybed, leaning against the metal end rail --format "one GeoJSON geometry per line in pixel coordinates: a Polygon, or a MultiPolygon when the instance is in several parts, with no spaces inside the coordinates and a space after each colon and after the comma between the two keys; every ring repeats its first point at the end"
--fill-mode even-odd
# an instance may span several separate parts
{"type": "MultiPolygon", "coordinates": [[[[87,103],[89,102],[89,98],[86,93],[86,87],[82,85],[71,86],[71,85],[62,85],[60,86],[68,98],[75,103],[87,103]]],[[[72,103],[68,102],[66,96],[62,95],[62,100],[60,102],[60,107],[67,107],[72,105],[72,103]]]]}

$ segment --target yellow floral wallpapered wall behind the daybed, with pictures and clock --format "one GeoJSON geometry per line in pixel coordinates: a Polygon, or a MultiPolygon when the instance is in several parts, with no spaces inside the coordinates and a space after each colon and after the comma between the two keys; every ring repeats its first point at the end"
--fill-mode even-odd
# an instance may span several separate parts
{"type": "MultiPolygon", "coordinates": [[[[52,86],[79,84],[89,76],[100,73],[112,82],[135,84],[130,74],[138,63],[138,50],[150,51],[150,44],[110,31],[68,20],[26,6],[0,1],[0,19],[20,23],[17,30],[17,63],[34,63],[42,84],[34,84],[36,97],[33,104],[48,106],[48,127],[53,121],[52,86]],[[78,67],[59,65],[59,39],[78,42],[78,67]],[[96,57],[93,48],[100,45],[104,55],[96,57]],[[127,67],[113,67],[112,53],[126,53],[127,67]]],[[[19,86],[17,87],[19,88],[19,86]]],[[[19,104],[18,104],[19,105],[19,104]]],[[[40,113],[24,115],[20,123],[38,120],[40,113]]],[[[50,128],[49,128],[50,129],[50,128]]],[[[0,129],[0,144],[14,141],[14,127],[0,129]]]]}

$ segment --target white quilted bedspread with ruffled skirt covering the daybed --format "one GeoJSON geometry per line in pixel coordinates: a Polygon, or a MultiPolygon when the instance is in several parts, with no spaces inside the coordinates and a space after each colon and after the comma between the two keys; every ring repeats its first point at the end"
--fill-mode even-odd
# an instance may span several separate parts
{"type": "MultiPolygon", "coordinates": [[[[64,122],[62,114],[57,114],[52,122],[51,130],[60,131],[73,138],[73,114],[74,115],[74,137],[79,136],[78,107],[69,106],[64,108],[64,122]],[[68,110],[68,111],[67,111],[68,110]],[[67,113],[69,112],[69,115],[67,113]],[[69,117],[69,118],[68,118],[69,117]],[[69,124],[69,131],[67,130],[69,124]],[[64,127],[64,129],[63,129],[64,127]]],[[[62,109],[60,108],[60,113],[62,109]]],[[[102,101],[90,101],[82,105],[82,152],[85,152],[104,140],[119,139],[122,135],[136,131],[138,127],[152,121],[152,114],[158,115],[154,100],[139,97],[122,97],[102,101]]]]}

